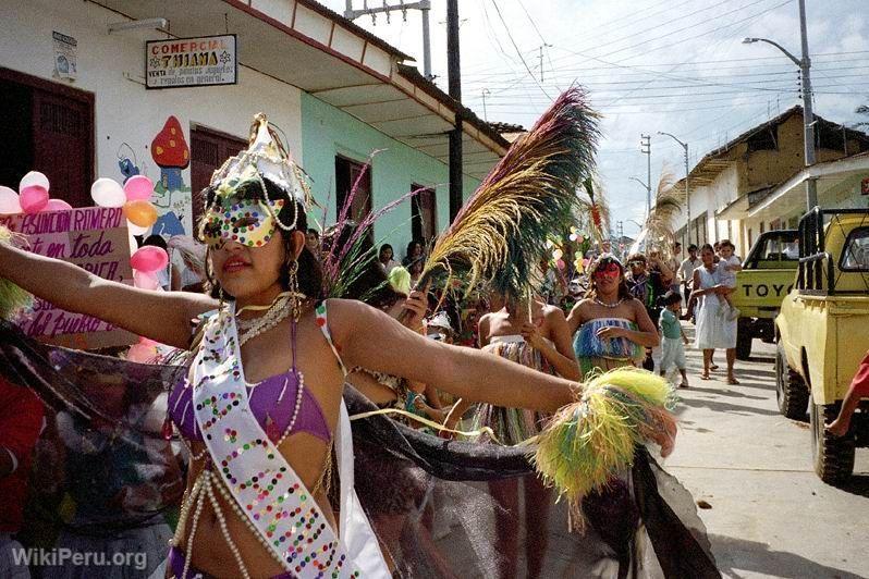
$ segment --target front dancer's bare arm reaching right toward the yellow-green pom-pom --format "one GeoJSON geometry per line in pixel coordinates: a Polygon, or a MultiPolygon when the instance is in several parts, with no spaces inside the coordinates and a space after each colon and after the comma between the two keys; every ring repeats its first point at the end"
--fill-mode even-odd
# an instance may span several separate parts
{"type": "Polygon", "coordinates": [[[472,348],[411,332],[359,301],[329,301],[330,325],[344,362],[418,380],[466,402],[554,411],[573,402],[577,384],[472,348]],[[369,328],[371,332],[358,332],[369,328]],[[401,356],[384,356],[401,352],[401,356]]]}

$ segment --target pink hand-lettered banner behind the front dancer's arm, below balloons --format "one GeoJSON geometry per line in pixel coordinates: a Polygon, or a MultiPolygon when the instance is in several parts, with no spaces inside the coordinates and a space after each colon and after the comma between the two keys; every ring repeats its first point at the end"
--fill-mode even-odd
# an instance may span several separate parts
{"type": "MultiPolygon", "coordinates": [[[[28,249],[75,263],[95,275],[133,285],[130,236],[119,208],[86,207],[70,211],[0,215],[0,225],[21,233],[28,249]]],[[[58,280],[63,283],[63,280],[58,280]]],[[[30,337],[78,349],[123,346],[136,342],[125,330],[82,313],[71,313],[44,299],[16,320],[30,337]]]]}

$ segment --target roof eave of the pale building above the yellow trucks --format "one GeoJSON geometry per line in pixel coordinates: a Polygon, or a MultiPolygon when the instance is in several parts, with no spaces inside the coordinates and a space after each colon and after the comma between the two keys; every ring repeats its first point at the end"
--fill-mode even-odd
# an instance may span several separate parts
{"type": "Polygon", "coordinates": [[[748,218],[775,219],[785,214],[786,208],[800,205],[805,198],[805,184],[816,181],[818,197],[850,187],[869,177],[869,155],[846,157],[836,161],[820,163],[798,172],[770,194],[749,208],[748,218]]]}

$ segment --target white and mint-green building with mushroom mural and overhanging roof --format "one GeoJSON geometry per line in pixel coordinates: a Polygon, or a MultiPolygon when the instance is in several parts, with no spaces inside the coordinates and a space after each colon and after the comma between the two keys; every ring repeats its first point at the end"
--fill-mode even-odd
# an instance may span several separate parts
{"type": "MultiPolygon", "coordinates": [[[[246,146],[262,111],[318,200],[329,199],[325,224],[375,151],[363,208],[415,186],[433,192],[419,197],[415,219],[411,204],[399,208],[376,237],[400,254],[414,227],[430,236],[449,220],[446,133],[460,106],[403,64],[411,57],[313,0],[2,0],[0,16],[0,121],[14,135],[2,145],[2,185],[38,170],[52,197],[83,207],[96,178],[144,174],[160,213],[152,233],[189,235],[195,192],[246,146]],[[149,25],[155,17],[164,23],[149,25]],[[219,35],[235,36],[235,84],[146,87],[146,41],[219,35]]],[[[469,111],[464,137],[468,195],[509,144],[469,111]]]]}

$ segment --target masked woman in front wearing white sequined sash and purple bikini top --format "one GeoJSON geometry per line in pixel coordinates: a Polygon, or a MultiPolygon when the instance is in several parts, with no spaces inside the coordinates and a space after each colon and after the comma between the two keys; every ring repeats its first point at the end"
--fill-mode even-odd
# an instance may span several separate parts
{"type": "Polygon", "coordinates": [[[175,576],[390,576],[353,491],[342,403],[347,366],[543,411],[578,392],[575,382],[426,340],[364,304],[316,303],[320,278],[304,243],[306,200],[299,170],[260,115],[250,147],[207,189],[201,232],[219,300],[143,291],[0,248],[0,275],[44,299],[193,348],[189,373],[169,397],[171,422],[192,459],[169,555],[175,576]],[[341,482],[334,508],[327,492],[332,447],[341,482]]]}

